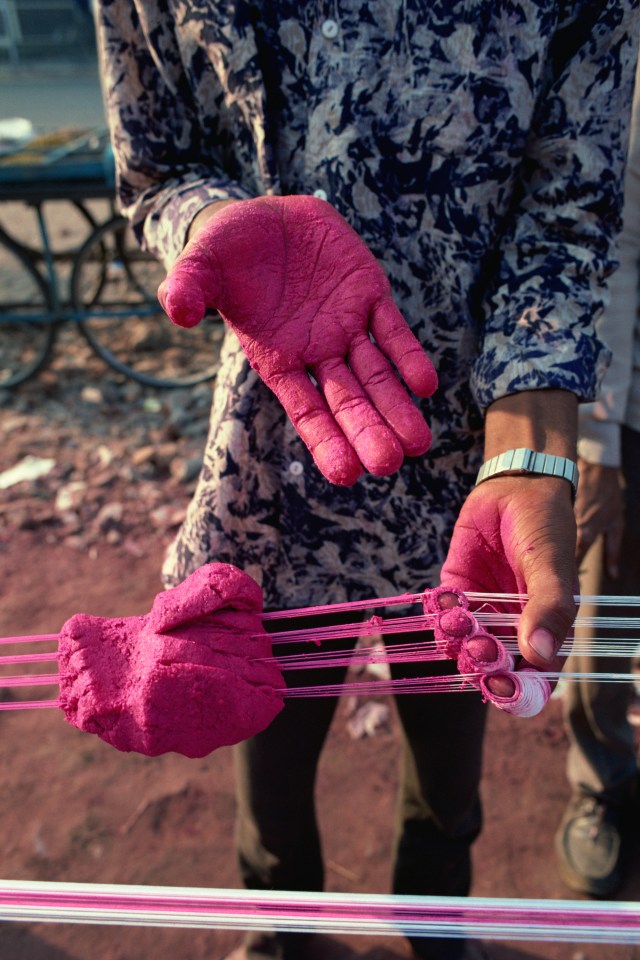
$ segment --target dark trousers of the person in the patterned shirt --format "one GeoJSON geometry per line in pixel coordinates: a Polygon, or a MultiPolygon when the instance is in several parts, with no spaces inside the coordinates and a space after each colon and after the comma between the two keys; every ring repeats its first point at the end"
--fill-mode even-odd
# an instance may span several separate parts
{"type": "MultiPolygon", "coordinates": [[[[406,641],[406,634],[385,638],[387,646],[406,641]]],[[[334,646],[344,649],[346,641],[334,646]]],[[[299,645],[291,650],[277,648],[278,654],[299,650],[299,645]]],[[[394,678],[455,672],[456,665],[450,661],[392,664],[394,678]]],[[[290,671],[285,679],[288,687],[340,683],[345,673],[346,668],[290,671]]],[[[486,708],[477,693],[403,694],[396,703],[402,766],[393,891],[466,896],[471,883],[470,848],[481,827],[479,781],[486,708]]],[[[290,699],[267,730],[236,747],[238,854],[249,888],[323,889],[314,787],[336,705],[337,700],[328,697],[290,699]]],[[[348,796],[344,805],[349,816],[348,796]]],[[[354,828],[356,817],[354,812],[354,828]]],[[[282,939],[290,941],[291,935],[282,939]]],[[[415,938],[412,943],[420,956],[447,960],[458,957],[464,946],[462,941],[430,938],[415,938]]],[[[290,956],[295,955],[291,949],[290,956]]]]}

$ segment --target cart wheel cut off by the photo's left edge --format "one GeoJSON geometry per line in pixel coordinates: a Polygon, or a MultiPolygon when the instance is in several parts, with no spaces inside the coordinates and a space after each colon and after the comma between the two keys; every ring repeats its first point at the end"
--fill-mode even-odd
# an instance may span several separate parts
{"type": "Polygon", "coordinates": [[[28,380],[47,362],[56,338],[48,287],[11,241],[0,242],[0,388],[28,380]]]}

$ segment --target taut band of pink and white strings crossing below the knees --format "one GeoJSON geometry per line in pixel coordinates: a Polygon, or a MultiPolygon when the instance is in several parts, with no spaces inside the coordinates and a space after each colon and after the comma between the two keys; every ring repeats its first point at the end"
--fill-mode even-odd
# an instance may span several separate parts
{"type": "Polygon", "coordinates": [[[631,902],[407,897],[0,880],[0,920],[637,943],[631,902]]]}

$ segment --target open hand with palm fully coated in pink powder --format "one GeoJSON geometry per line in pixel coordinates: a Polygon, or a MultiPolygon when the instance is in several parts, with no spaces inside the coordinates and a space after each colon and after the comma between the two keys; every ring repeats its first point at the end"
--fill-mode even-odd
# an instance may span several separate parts
{"type": "Polygon", "coordinates": [[[180,326],[217,309],[333,483],[384,476],[425,453],[418,396],[435,370],[393,302],[375,257],[315,197],[225,206],[189,241],[159,290],[180,326]],[[375,341],[375,342],[374,342],[375,341]]]}

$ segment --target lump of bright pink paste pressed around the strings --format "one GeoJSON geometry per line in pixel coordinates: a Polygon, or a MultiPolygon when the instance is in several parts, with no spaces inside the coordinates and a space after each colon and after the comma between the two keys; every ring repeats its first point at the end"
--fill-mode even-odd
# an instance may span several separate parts
{"type": "Polygon", "coordinates": [[[59,641],[66,719],[151,757],[204,757],[259,733],[285,686],[261,611],[251,577],[211,563],[158,594],[145,616],[76,614],[59,641]]]}

